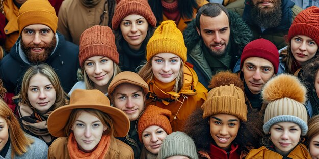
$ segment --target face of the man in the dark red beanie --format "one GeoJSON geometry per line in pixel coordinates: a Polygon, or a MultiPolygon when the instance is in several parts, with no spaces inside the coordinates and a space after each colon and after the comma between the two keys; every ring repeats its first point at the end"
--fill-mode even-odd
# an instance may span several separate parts
{"type": "Polygon", "coordinates": [[[264,84],[275,75],[273,64],[260,57],[245,59],[242,71],[246,85],[253,94],[259,94],[264,84]]]}

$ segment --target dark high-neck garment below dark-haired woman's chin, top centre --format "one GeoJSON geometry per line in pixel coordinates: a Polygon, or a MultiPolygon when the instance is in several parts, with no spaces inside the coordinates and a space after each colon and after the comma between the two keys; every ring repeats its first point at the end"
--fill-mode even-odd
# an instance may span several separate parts
{"type": "Polygon", "coordinates": [[[123,40],[123,51],[120,53],[120,64],[122,66],[122,71],[132,71],[136,72],[135,69],[141,65],[142,61],[145,61],[145,53],[144,43],[142,44],[139,50],[132,50],[128,46],[127,42],[123,40]]]}

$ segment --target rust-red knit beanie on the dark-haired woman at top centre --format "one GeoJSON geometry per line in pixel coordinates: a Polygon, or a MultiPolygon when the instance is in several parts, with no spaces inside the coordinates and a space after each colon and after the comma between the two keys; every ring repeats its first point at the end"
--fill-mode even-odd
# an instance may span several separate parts
{"type": "Polygon", "coordinates": [[[156,26],[156,17],[147,0],[121,0],[116,5],[112,19],[112,28],[117,30],[121,21],[132,14],[140,15],[144,17],[150,25],[153,27],[156,26]]]}

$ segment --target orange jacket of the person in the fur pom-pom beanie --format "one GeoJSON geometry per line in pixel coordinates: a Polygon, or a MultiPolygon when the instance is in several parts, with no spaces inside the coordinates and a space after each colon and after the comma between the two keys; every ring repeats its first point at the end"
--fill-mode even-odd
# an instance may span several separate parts
{"type": "MultiPolygon", "coordinates": [[[[280,159],[283,158],[282,155],[280,155],[277,152],[274,152],[264,146],[258,148],[258,149],[253,149],[251,150],[248,155],[246,156],[246,159],[261,159],[261,158],[273,158],[273,159],[280,159]]],[[[287,156],[287,158],[307,158],[307,159],[311,159],[311,155],[309,154],[307,148],[305,145],[303,144],[298,144],[293,151],[291,151],[289,153],[289,155],[287,156]]]]}

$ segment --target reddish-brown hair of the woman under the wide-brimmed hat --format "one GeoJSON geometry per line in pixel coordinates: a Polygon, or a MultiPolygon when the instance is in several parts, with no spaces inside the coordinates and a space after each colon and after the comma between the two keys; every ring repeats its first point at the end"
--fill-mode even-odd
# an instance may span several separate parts
{"type": "Polygon", "coordinates": [[[82,111],[96,116],[102,122],[103,126],[107,127],[107,130],[105,130],[103,132],[103,135],[106,135],[106,136],[113,135],[114,125],[113,125],[112,119],[110,118],[110,116],[108,114],[106,114],[100,110],[97,110],[97,109],[79,108],[79,109],[72,110],[70,117],[69,117],[69,120],[68,120],[67,124],[65,125],[64,133],[67,137],[70,136],[70,133],[72,132],[71,128],[72,128],[75,120],[79,116],[80,112],[82,112],[82,111]]]}

